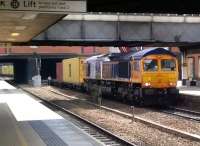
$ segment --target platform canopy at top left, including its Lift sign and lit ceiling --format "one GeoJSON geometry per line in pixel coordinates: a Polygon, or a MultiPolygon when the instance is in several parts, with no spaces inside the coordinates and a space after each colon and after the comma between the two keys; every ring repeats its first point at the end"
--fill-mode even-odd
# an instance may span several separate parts
{"type": "Polygon", "coordinates": [[[0,0],[0,42],[27,42],[70,13],[86,12],[85,0],[0,0]]]}

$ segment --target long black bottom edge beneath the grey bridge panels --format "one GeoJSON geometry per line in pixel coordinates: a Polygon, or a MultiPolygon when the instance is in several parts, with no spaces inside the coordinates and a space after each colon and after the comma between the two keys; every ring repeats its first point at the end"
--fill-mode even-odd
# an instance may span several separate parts
{"type": "Polygon", "coordinates": [[[111,46],[111,47],[180,47],[180,48],[199,48],[200,42],[147,42],[147,41],[57,41],[57,40],[34,40],[27,43],[14,43],[17,46],[111,46]]]}

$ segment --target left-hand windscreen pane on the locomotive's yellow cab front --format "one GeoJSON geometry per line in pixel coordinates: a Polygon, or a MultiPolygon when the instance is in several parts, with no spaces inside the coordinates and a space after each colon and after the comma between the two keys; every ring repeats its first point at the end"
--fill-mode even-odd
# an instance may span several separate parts
{"type": "Polygon", "coordinates": [[[145,59],[144,60],[144,71],[157,71],[158,61],[156,59],[145,59]]]}

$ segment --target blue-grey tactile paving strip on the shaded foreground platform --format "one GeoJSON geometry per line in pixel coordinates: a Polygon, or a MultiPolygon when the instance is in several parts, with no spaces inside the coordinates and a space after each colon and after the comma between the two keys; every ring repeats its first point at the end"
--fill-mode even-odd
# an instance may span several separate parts
{"type": "Polygon", "coordinates": [[[29,122],[31,127],[38,133],[47,146],[68,146],[58,135],[56,135],[42,121],[29,122]]]}

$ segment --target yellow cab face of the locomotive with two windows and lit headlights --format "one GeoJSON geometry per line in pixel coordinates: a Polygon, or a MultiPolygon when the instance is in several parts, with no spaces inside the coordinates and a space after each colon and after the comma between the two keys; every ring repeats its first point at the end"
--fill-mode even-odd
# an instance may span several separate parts
{"type": "Polygon", "coordinates": [[[143,88],[176,88],[177,59],[170,55],[150,55],[142,59],[143,88]]]}

